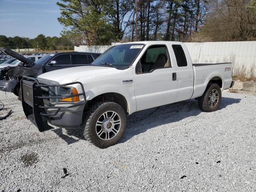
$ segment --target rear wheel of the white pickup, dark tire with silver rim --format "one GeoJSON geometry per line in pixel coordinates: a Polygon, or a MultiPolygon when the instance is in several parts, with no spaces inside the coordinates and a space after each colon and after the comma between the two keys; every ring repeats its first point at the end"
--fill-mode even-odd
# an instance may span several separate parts
{"type": "Polygon", "coordinates": [[[199,108],[204,112],[216,111],[221,103],[220,86],[215,83],[209,83],[204,94],[198,97],[199,108]]]}

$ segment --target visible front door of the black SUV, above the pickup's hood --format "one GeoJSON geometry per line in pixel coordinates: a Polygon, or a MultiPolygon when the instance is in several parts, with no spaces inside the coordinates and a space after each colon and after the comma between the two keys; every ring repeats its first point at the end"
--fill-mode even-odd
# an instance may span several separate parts
{"type": "Polygon", "coordinates": [[[60,54],[52,58],[45,67],[46,72],[58,69],[72,67],[71,54],[60,54]],[[51,61],[56,61],[56,64],[50,64],[51,61]]]}

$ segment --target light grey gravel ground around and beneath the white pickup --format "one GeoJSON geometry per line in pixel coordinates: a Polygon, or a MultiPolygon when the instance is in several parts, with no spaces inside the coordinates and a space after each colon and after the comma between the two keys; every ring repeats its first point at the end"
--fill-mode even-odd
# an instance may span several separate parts
{"type": "Polygon", "coordinates": [[[256,97],[223,93],[137,112],[124,138],[99,149],[74,131],[40,133],[13,94],[0,121],[0,191],[256,191],[256,97]],[[64,176],[63,168],[68,175],[64,176]]]}

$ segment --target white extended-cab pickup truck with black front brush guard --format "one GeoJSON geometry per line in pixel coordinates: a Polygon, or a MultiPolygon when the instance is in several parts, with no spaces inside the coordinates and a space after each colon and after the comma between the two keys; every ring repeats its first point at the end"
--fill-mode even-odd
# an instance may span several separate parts
{"type": "Polygon", "coordinates": [[[24,112],[40,132],[80,128],[106,148],[124,134],[127,115],[191,98],[212,112],[233,82],[231,63],[192,63],[183,43],[148,41],[112,46],[91,66],[24,76],[21,85],[24,112]]]}

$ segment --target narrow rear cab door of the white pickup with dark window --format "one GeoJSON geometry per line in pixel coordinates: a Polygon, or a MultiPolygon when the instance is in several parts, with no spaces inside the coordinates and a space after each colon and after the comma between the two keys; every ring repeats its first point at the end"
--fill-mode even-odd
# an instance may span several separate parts
{"type": "Polygon", "coordinates": [[[190,58],[187,56],[189,54],[188,51],[180,44],[172,44],[172,49],[175,55],[177,68],[178,92],[176,102],[178,102],[187,100],[192,96],[194,88],[194,71],[190,58]]]}

